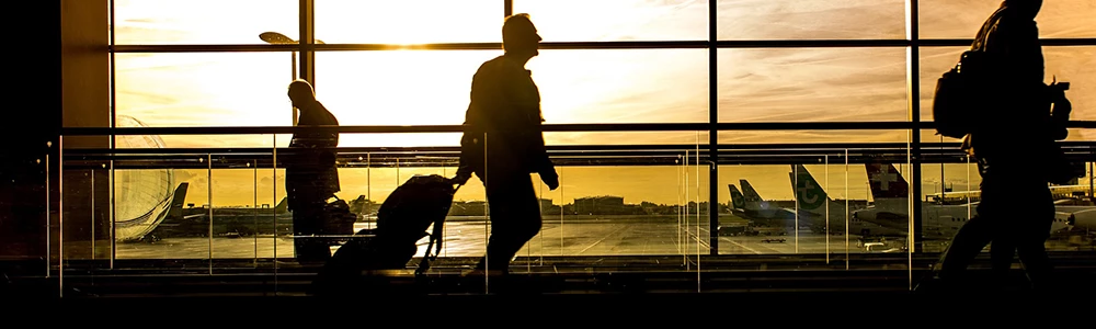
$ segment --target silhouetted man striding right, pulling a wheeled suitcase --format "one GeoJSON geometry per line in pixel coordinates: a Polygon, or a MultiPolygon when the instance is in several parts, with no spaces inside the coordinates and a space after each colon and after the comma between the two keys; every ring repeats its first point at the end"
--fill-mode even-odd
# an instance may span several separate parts
{"type": "Polygon", "coordinates": [[[549,189],[559,186],[545,151],[540,92],[525,64],[539,55],[540,35],[527,14],[506,18],[505,54],[483,63],[472,77],[465,114],[460,168],[455,182],[472,173],[483,181],[491,216],[491,237],[471,275],[507,274],[510,261],[540,231],[540,206],[529,173],[549,189]]]}

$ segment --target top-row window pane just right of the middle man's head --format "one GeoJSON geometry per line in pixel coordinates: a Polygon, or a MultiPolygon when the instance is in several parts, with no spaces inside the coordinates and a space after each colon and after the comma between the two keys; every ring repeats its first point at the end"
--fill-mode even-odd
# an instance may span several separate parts
{"type": "Polygon", "coordinates": [[[708,1],[515,0],[514,13],[545,42],[708,39],[708,1]]]}

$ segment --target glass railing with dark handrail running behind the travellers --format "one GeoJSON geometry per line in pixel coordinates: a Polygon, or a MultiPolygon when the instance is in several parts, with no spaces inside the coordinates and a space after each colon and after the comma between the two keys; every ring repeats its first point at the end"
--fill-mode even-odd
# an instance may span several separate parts
{"type": "MultiPolygon", "coordinates": [[[[347,129],[343,140],[385,138],[347,129]]],[[[295,217],[288,207],[285,170],[299,151],[284,147],[283,131],[293,128],[247,135],[269,140],[269,147],[250,148],[164,148],[139,129],[114,131],[113,149],[109,136],[62,136],[61,161],[44,162],[57,163],[48,171],[59,173],[54,185],[60,191],[47,223],[50,275],[72,284],[119,274],[307,277],[322,262],[298,261],[295,241],[320,241],[330,256],[352,246],[347,241],[375,237],[381,205],[398,186],[414,177],[452,178],[460,161],[457,146],[332,149],[341,185],[335,195],[354,219],[339,231],[301,234],[300,223],[311,218],[295,217]]],[[[703,291],[711,283],[701,274],[729,271],[889,271],[912,285],[921,275],[915,271],[931,265],[974,214],[978,171],[955,143],[916,149],[910,143],[711,147],[708,131],[686,133],[696,143],[550,145],[559,188],[550,190],[536,173],[528,177],[535,194],[529,205],[536,203],[529,214],[539,213],[541,220],[510,272],[688,274],[703,291]]],[[[1093,250],[1096,144],[1062,145],[1089,167],[1077,184],[1053,188],[1058,217],[1047,247],[1069,258],[1093,250]]],[[[488,181],[492,172],[489,167],[488,181]]],[[[490,209],[483,182],[473,175],[453,194],[443,247],[420,274],[469,271],[488,252],[492,222],[500,227],[524,219],[490,209]]],[[[411,277],[430,242],[429,236],[413,242],[401,275],[411,277]]]]}

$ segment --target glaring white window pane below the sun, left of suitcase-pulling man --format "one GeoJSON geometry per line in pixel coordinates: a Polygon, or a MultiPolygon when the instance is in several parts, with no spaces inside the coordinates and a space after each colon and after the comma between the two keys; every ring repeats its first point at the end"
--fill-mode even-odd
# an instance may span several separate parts
{"type": "MultiPolygon", "coordinates": [[[[459,125],[472,75],[501,53],[320,52],[316,98],[341,125],[459,125]]],[[[456,138],[442,145],[457,145],[456,138]]]]}

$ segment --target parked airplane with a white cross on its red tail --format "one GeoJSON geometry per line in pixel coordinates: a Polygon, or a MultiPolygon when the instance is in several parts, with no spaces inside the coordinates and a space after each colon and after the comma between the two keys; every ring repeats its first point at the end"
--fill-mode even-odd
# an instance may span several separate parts
{"type": "MultiPolygon", "coordinates": [[[[893,164],[866,163],[868,185],[875,202],[867,208],[853,212],[858,220],[878,224],[895,230],[899,236],[909,235],[910,195],[909,183],[893,164]]],[[[950,239],[975,214],[979,202],[966,204],[922,203],[922,227],[924,239],[950,239]]],[[[1051,225],[1051,232],[1068,228],[1071,213],[1083,206],[1059,208],[1051,225]],[[1064,211],[1063,211],[1064,209],[1064,211]]],[[[1087,208],[1093,208],[1088,206],[1087,208]]],[[[861,232],[874,234],[874,232],[861,232]]]]}

